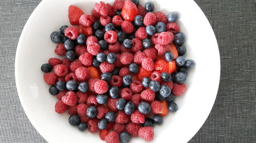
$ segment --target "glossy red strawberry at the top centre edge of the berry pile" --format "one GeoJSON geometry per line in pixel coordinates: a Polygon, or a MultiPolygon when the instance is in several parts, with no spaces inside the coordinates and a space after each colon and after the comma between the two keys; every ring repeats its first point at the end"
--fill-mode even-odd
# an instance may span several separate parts
{"type": "Polygon", "coordinates": [[[124,20],[132,22],[136,15],[139,14],[137,6],[130,0],[125,1],[121,16],[124,20]]]}

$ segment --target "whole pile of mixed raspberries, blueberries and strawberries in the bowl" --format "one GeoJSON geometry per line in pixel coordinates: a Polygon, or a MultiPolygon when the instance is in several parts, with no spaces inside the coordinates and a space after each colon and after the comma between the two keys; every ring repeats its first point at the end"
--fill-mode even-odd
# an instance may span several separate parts
{"type": "Polygon", "coordinates": [[[55,111],[70,115],[78,130],[99,130],[108,143],[129,142],[139,136],[151,141],[155,124],[168,111],[176,112],[175,97],[186,91],[188,69],[185,35],[177,12],[153,12],[139,0],[96,3],[90,14],[69,7],[73,26],[51,34],[54,52],[41,66],[49,92],[58,101],[55,111]]]}

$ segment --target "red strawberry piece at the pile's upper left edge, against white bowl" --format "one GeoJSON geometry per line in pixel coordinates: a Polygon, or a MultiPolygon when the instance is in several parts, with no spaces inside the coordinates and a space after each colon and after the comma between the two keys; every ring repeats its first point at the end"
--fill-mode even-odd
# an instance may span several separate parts
{"type": "Polygon", "coordinates": [[[69,6],[69,21],[72,25],[79,24],[79,18],[83,15],[84,12],[76,6],[69,6]]]}

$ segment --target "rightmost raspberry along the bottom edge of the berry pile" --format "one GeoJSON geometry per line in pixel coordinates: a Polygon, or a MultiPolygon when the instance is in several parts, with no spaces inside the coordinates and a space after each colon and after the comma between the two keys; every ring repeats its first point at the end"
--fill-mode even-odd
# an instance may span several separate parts
{"type": "Polygon", "coordinates": [[[153,140],[154,137],[154,128],[151,126],[142,127],[139,130],[139,136],[146,141],[153,140]]]}

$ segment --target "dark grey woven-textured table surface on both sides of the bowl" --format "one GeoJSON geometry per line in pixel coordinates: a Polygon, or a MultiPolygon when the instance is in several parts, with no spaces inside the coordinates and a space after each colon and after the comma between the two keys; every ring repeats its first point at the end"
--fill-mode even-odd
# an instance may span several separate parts
{"type": "MultiPolygon", "coordinates": [[[[189,142],[256,142],[256,1],[195,1],[217,37],[221,79],[208,119],[189,142]]],[[[14,76],[20,33],[39,3],[0,1],[0,142],[47,142],[26,117],[14,76]]]]}

